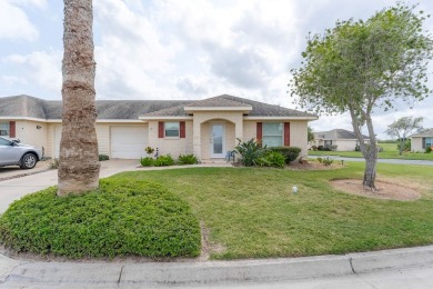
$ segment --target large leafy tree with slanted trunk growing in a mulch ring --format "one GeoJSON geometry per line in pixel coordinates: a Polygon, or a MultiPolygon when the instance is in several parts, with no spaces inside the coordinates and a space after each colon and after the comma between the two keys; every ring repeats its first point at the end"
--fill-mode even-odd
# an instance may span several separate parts
{"type": "Polygon", "coordinates": [[[375,190],[377,146],[373,109],[387,110],[397,99],[406,103],[431,93],[426,68],[432,38],[422,24],[423,11],[397,3],[366,21],[338,21],[323,36],[311,36],[304,62],[292,69],[291,96],[316,113],[350,112],[365,158],[364,188],[375,190]],[[298,98],[296,98],[298,97],[298,98]],[[370,146],[361,134],[366,126],[370,146]]]}

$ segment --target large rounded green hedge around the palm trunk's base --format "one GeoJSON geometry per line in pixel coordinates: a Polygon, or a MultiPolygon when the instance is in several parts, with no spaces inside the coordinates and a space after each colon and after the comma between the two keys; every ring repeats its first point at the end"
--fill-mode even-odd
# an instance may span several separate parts
{"type": "Polygon", "coordinates": [[[158,183],[115,178],[82,196],[56,192],[51,187],[13,202],[0,217],[0,243],[69,258],[200,253],[198,218],[158,183]]]}

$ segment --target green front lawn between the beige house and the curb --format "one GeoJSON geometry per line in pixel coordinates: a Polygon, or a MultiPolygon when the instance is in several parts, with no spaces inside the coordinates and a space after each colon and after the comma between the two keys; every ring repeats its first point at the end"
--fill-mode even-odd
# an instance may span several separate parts
{"type": "Polygon", "coordinates": [[[416,201],[356,197],[335,178],[362,178],[364,165],[335,170],[191,168],[134,171],[117,179],[159,182],[190,203],[223,248],[212,259],[312,256],[433,243],[432,168],[379,163],[380,177],[421,183],[416,201]],[[292,195],[292,186],[299,193],[292,195]]]}

